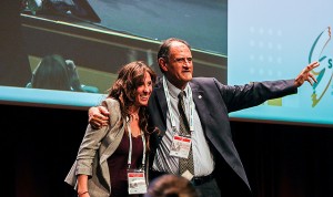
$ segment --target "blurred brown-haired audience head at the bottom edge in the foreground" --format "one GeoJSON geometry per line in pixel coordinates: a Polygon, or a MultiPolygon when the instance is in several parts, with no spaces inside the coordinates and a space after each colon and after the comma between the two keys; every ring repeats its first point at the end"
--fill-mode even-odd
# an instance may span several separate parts
{"type": "Polygon", "coordinates": [[[199,197],[199,195],[186,178],[170,174],[153,179],[144,197],[199,197]]]}

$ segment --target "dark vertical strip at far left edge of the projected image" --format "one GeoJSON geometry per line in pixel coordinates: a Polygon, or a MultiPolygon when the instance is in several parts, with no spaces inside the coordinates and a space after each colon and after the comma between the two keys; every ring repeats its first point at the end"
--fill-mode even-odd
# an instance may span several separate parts
{"type": "Polygon", "coordinates": [[[0,84],[26,86],[31,71],[22,39],[20,0],[1,0],[0,8],[0,84]]]}

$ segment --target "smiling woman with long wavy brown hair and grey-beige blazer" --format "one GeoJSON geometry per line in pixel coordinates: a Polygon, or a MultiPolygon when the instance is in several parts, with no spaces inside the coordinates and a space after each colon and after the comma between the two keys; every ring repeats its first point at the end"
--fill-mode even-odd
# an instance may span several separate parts
{"type": "Polygon", "coordinates": [[[133,197],[145,193],[147,105],[155,80],[155,73],[141,61],[119,71],[102,102],[111,112],[109,125],[100,129],[88,125],[65,178],[79,197],[133,197]]]}

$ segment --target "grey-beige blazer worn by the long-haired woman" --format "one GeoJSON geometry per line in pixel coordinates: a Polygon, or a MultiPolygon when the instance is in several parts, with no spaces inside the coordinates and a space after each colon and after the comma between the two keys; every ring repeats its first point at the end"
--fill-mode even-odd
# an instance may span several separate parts
{"type": "Polygon", "coordinates": [[[88,189],[91,197],[109,197],[111,180],[107,159],[114,153],[124,134],[125,121],[121,124],[120,103],[113,98],[102,102],[110,112],[109,126],[92,129],[88,125],[84,137],[64,182],[77,189],[77,175],[89,175],[88,189]],[[122,125],[122,126],[121,126],[122,125]]]}

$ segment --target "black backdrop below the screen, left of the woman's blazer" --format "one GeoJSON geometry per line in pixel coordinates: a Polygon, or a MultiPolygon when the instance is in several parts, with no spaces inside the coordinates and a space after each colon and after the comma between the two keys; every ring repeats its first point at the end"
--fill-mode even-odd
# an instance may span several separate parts
{"type": "Polygon", "coordinates": [[[87,111],[16,105],[0,111],[8,196],[73,197],[63,179],[83,137],[87,111]]]}

